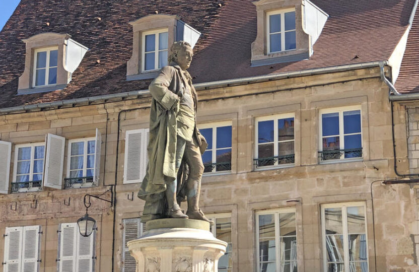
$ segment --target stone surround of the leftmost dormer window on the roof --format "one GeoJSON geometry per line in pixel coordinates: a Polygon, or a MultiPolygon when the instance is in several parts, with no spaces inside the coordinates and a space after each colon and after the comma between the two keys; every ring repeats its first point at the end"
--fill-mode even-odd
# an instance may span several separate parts
{"type": "Polygon", "coordinates": [[[50,92],[65,88],[71,79],[71,73],[68,73],[64,69],[64,56],[66,50],[64,44],[69,38],[71,38],[71,35],[69,34],[47,32],[36,34],[22,40],[26,43],[25,70],[23,71],[22,76],[19,77],[18,95],[50,92]],[[54,85],[34,87],[35,50],[50,47],[58,48],[57,82],[54,85]]]}

